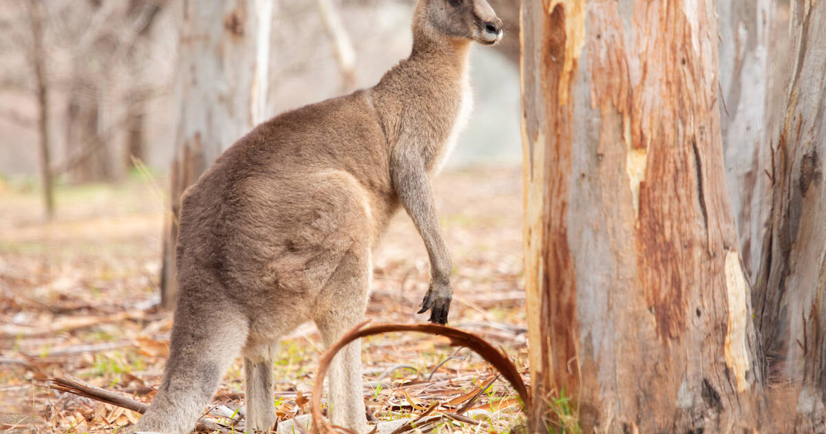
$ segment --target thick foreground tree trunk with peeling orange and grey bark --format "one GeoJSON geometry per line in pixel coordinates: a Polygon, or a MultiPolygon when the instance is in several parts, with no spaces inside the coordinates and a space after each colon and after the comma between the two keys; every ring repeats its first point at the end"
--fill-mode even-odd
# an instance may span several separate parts
{"type": "Polygon", "coordinates": [[[531,432],[564,422],[563,392],[582,432],[756,428],[714,2],[523,2],[521,18],[531,432]]]}

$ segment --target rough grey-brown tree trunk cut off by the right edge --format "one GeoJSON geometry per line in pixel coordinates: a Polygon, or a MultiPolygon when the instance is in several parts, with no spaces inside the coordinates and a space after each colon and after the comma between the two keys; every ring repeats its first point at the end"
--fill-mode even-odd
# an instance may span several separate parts
{"type": "Polygon", "coordinates": [[[826,390],[826,2],[793,0],[786,95],[771,147],[771,221],[757,327],[771,379],[799,388],[797,432],[824,432],[826,390]]]}

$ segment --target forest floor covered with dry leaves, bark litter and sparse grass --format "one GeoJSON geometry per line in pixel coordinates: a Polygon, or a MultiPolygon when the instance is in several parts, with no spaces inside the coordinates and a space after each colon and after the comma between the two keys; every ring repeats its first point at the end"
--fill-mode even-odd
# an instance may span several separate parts
{"type": "MultiPolygon", "coordinates": [[[[57,217],[45,222],[33,188],[0,181],[0,429],[114,432],[139,416],[48,389],[50,376],[150,402],[172,326],[171,313],[158,306],[164,185],[136,176],[116,185],[61,186],[57,217]]],[[[520,169],[453,171],[435,189],[454,264],[450,325],[501,347],[527,378],[520,169]]],[[[373,258],[368,318],[425,322],[429,313],[415,312],[428,260],[406,214],[394,218],[373,258]]],[[[322,352],[311,323],[282,340],[280,417],[309,412],[322,352]]],[[[240,408],[241,372],[235,360],[214,405],[240,408]]],[[[382,421],[414,417],[432,403],[439,403],[436,413],[455,411],[493,376],[484,360],[444,338],[395,333],[363,343],[365,402],[382,421]]],[[[478,422],[444,419],[437,431],[506,432],[524,422],[506,381],[484,392],[472,404],[483,415],[478,422]]]]}

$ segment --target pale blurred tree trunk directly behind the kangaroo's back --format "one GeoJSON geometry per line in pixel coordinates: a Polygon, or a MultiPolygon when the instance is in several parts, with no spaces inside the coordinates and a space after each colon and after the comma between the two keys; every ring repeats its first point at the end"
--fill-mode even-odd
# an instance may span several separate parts
{"type": "MultiPolygon", "coordinates": [[[[177,157],[170,171],[171,212],[164,230],[161,300],[173,308],[177,293],[174,246],[178,236],[180,196],[188,185],[249,129],[268,117],[268,56],[258,45],[269,44],[274,0],[183,2],[177,92],[177,157]],[[260,57],[260,59],[259,59],[260,57]]],[[[263,50],[268,53],[269,50],[263,50]]]]}

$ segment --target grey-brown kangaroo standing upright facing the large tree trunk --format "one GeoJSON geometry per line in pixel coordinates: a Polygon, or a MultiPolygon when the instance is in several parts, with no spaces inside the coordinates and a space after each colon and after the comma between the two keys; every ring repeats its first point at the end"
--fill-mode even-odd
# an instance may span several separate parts
{"type": "MultiPolygon", "coordinates": [[[[363,320],[371,252],[400,207],[430,258],[419,313],[447,322],[451,262],[430,179],[468,117],[470,45],[496,44],[502,21],[487,0],[419,0],[414,13],[411,55],[373,88],[263,122],[183,193],[169,360],[135,431],[190,432],[238,354],[247,428],[272,428],[278,339],[312,320],[330,346],[363,320]]],[[[332,423],[367,432],[358,341],[328,389],[332,423]]]]}

